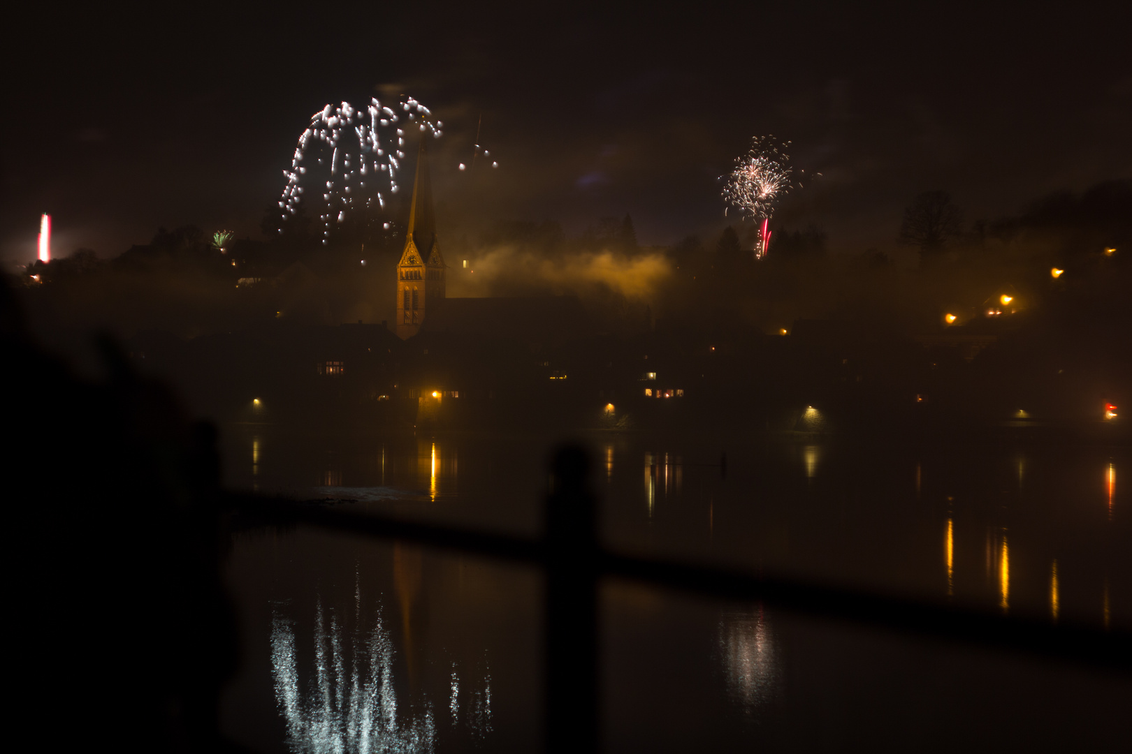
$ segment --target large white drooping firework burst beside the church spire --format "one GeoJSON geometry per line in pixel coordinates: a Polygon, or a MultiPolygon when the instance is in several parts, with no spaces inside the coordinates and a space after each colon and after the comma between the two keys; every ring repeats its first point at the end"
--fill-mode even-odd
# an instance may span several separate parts
{"type": "Polygon", "coordinates": [[[384,208],[383,191],[397,192],[405,131],[415,128],[439,138],[443,125],[412,97],[395,109],[376,97],[365,109],[349,102],[326,105],[311,116],[299,137],[291,168],[283,171],[286,187],[278,202],[281,219],[285,222],[298,211],[308,189],[316,197],[320,193],[319,219],[323,243],[327,243],[331,223],[342,223],[349,214],[375,205],[384,208]]]}

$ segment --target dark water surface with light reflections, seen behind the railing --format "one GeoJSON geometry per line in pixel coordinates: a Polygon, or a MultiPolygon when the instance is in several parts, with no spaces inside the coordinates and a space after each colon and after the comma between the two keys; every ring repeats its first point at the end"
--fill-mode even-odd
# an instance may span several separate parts
{"type": "MultiPolygon", "coordinates": [[[[535,537],[557,439],[225,432],[230,487],[535,537]]],[[[586,435],[615,549],[1132,626],[1132,452],[586,435]],[[726,453],[726,465],[721,457],[726,453]],[[1126,479],[1127,482],[1122,482],[1126,479]]],[[[264,752],[540,746],[541,574],[299,528],[228,564],[230,736],[264,752]]],[[[1127,751],[1132,684],[1029,656],[608,581],[610,751],[1127,751]]]]}

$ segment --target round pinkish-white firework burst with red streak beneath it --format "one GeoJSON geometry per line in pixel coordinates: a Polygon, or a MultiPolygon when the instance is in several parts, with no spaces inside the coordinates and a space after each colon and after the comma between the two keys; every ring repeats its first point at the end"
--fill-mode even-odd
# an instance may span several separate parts
{"type": "Polygon", "coordinates": [[[723,198],[738,208],[740,215],[762,220],[755,258],[766,254],[771,233],[771,214],[783,193],[790,190],[790,156],[784,149],[789,141],[777,144],[772,136],[751,139],[751,149],[735,161],[735,170],[723,187],[723,198]]]}

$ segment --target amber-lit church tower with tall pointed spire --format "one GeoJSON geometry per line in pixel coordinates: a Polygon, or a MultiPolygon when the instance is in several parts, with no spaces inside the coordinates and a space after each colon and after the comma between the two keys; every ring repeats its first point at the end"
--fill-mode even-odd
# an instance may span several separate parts
{"type": "Polygon", "coordinates": [[[405,250],[397,263],[397,337],[411,338],[424,322],[429,309],[443,305],[445,263],[436,243],[436,217],[432,211],[432,187],[429,182],[424,135],[417,154],[417,176],[409,210],[405,250]]]}

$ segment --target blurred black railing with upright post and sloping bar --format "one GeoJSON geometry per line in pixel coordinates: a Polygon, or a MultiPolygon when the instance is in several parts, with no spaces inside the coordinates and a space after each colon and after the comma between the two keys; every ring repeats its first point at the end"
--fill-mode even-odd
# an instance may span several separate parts
{"type": "Polygon", "coordinates": [[[1132,633],[1054,626],[843,588],[753,575],[731,569],[609,552],[598,544],[597,505],[586,485],[589,462],[564,448],[551,468],[547,530],[541,540],[414,523],[280,500],[240,499],[239,510],[263,523],[306,525],[381,539],[414,541],[482,557],[537,565],[546,573],[546,748],[598,748],[597,588],[603,577],[642,581],[727,599],[752,600],[812,617],[835,618],[923,636],[975,642],[1063,658],[1118,674],[1132,673],[1132,633]]]}

